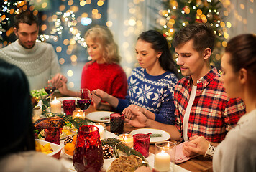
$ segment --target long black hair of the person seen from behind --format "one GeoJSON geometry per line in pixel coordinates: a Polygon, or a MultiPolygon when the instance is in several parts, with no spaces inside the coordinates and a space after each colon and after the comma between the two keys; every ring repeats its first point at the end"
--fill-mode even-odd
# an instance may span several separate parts
{"type": "Polygon", "coordinates": [[[35,150],[32,104],[27,77],[19,67],[0,59],[0,157],[35,150]]]}

